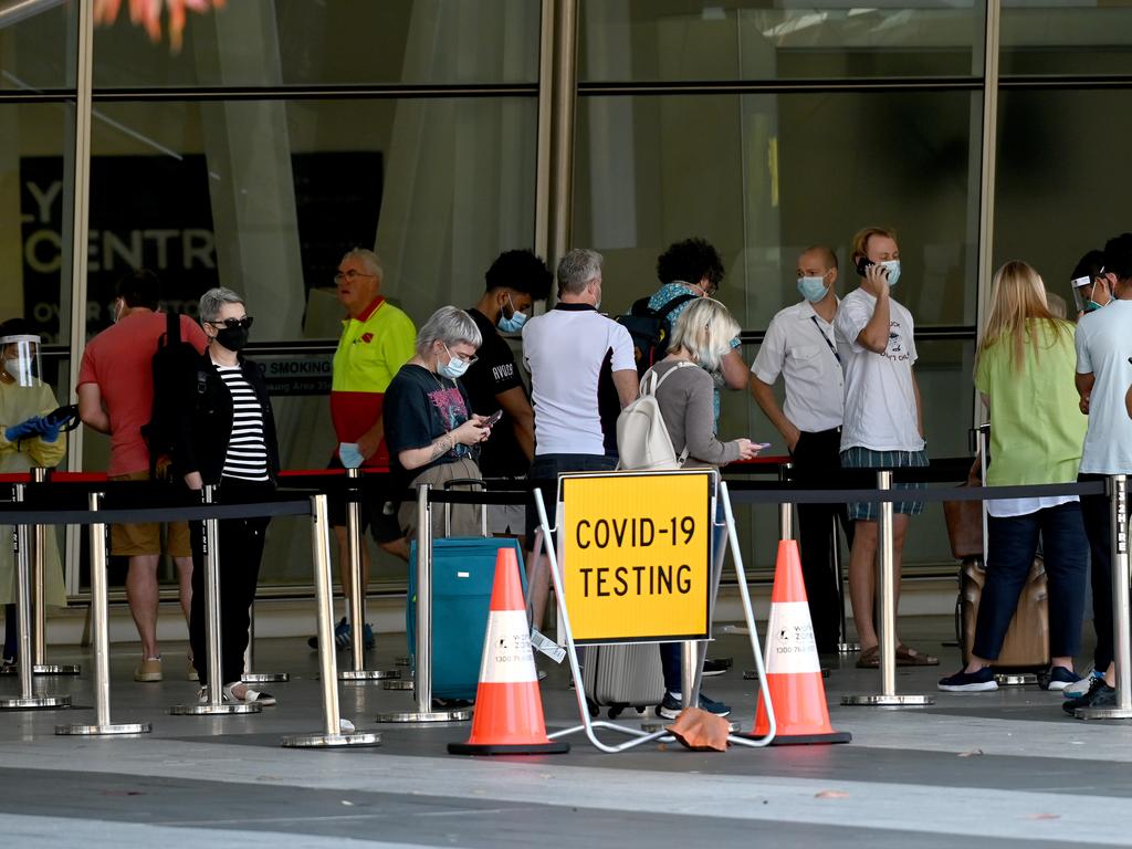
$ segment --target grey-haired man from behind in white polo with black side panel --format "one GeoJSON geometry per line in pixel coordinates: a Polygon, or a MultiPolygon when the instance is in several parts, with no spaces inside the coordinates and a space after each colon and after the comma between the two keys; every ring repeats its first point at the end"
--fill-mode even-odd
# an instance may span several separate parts
{"type": "MultiPolygon", "coordinates": [[[[606,454],[598,411],[598,384],[611,371],[624,408],[637,396],[636,361],[628,331],[598,312],[601,303],[601,255],[575,248],[558,263],[558,303],[523,325],[523,359],[531,372],[534,406],[534,462],[530,478],[542,490],[547,512],[556,498],[559,472],[608,471],[617,457],[606,454]]],[[[526,512],[526,539],[538,528],[526,512]]],[[[552,543],[551,543],[552,544],[552,543]]],[[[542,623],[549,591],[543,563],[530,564],[534,625],[542,623]]]]}

